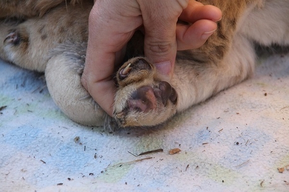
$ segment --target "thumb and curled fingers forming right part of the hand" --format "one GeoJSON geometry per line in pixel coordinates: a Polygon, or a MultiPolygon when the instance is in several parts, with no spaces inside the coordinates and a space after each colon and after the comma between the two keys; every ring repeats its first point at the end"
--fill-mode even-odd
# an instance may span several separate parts
{"type": "Polygon", "coordinates": [[[202,46],[217,28],[222,12],[195,0],[139,0],[145,28],[144,53],[159,72],[172,76],[177,50],[202,46]],[[177,24],[178,19],[192,23],[177,24]]]}

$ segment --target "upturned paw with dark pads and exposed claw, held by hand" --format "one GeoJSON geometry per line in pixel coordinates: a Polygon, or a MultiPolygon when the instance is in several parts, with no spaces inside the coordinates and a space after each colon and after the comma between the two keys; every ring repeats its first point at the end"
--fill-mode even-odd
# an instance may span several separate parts
{"type": "Polygon", "coordinates": [[[132,58],[116,74],[113,117],[121,127],[155,126],[176,113],[177,93],[146,58],[132,58]]]}

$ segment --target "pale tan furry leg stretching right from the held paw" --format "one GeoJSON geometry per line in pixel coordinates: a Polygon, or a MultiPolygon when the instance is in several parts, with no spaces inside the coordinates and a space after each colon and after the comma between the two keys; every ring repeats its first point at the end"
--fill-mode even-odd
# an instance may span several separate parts
{"type": "Polygon", "coordinates": [[[253,43],[244,35],[236,34],[219,62],[196,64],[177,59],[171,81],[178,93],[177,111],[181,112],[253,75],[255,57],[253,43]]]}

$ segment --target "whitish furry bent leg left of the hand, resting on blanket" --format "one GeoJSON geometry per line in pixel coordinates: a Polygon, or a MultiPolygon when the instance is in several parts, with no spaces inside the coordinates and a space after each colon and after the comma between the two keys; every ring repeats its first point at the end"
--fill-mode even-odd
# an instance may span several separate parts
{"type": "Polygon", "coordinates": [[[70,119],[87,126],[103,126],[106,113],[80,82],[85,51],[86,43],[70,42],[50,51],[45,69],[47,88],[56,105],[70,119]]]}

